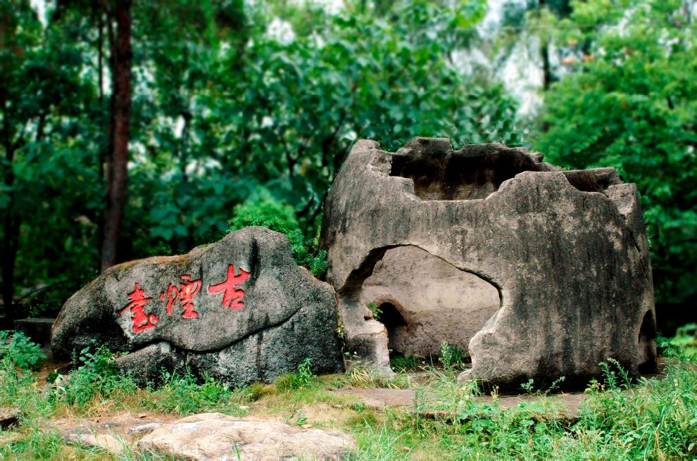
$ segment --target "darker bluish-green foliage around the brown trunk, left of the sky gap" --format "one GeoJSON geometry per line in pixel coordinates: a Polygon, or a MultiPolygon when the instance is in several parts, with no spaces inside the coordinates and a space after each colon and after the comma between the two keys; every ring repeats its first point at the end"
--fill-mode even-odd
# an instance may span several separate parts
{"type": "MultiPolygon", "coordinates": [[[[49,2],[44,26],[29,1],[0,3],[0,162],[13,172],[0,214],[18,223],[0,234],[16,238],[16,294],[99,267],[109,52],[99,4],[49,2]]],[[[135,3],[120,259],[215,241],[230,210],[266,190],[283,204],[270,212],[291,207],[296,260],[321,277],[322,202],[354,140],[518,142],[515,101],[453,59],[484,13],[483,0],[350,1],[336,14],[309,1],[135,3]]],[[[73,288],[34,313],[55,313],[73,288]]]]}

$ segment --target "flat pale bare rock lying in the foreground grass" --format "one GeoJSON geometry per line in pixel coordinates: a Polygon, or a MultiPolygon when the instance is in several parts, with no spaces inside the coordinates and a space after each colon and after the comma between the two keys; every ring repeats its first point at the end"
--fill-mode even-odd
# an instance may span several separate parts
{"type": "Polygon", "coordinates": [[[165,424],[144,436],[136,447],[201,461],[341,460],[356,449],[356,443],[336,432],[205,413],[165,424]]]}

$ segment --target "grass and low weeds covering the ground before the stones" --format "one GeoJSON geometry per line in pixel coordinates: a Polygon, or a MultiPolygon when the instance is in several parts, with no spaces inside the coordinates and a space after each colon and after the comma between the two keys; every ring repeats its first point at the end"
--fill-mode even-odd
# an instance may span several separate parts
{"type": "Polygon", "coordinates": [[[6,354],[0,357],[0,407],[18,407],[24,416],[19,429],[0,432],[0,459],[159,459],[127,447],[117,456],[68,446],[51,425],[56,417],[144,411],[177,417],[215,411],[344,431],[358,441],[352,460],[694,459],[696,362],[691,350],[666,344],[663,377],[631,383],[607,362],[572,420],[558,418],[553,396],[534,392],[532,384],[531,400],[515,408],[502,408],[496,389],[482,401],[477,386],[459,386],[457,372],[447,367],[430,369],[422,384],[406,374],[387,378],[364,369],[316,377],[306,363],[273,384],[244,389],[168,373],[157,389],[138,389],[113,370],[113,356],[104,349],[83,351],[82,367],[56,384],[42,384],[31,367],[18,367],[6,354]],[[411,407],[377,411],[334,392],[346,386],[413,387],[415,398],[411,407]]]}

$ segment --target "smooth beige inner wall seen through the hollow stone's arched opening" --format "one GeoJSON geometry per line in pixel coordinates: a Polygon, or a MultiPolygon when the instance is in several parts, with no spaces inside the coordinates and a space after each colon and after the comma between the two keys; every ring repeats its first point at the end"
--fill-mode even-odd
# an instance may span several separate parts
{"type": "Polygon", "coordinates": [[[500,303],[494,285],[415,246],[387,250],[360,294],[382,310],[391,351],[422,357],[441,341],[466,350],[500,303]]]}

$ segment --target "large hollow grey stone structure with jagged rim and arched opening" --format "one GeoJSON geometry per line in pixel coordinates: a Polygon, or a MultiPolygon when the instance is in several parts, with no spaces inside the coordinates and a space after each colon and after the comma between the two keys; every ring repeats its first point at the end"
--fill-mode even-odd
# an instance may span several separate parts
{"type": "MultiPolygon", "coordinates": [[[[416,138],[396,153],[375,141],[353,146],[322,229],[349,351],[390,372],[387,329],[365,306],[364,282],[388,251],[411,246],[498,291],[498,310],[470,339],[463,379],[585,384],[608,357],[632,374],[655,370],[636,187],[612,168],[561,171],[541,158],[501,144],[453,151],[447,139],[416,138]]],[[[413,283],[428,291],[431,275],[413,283]]],[[[462,315],[458,324],[471,322],[462,315]]]]}

